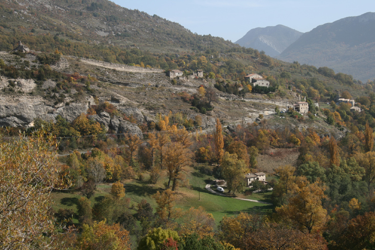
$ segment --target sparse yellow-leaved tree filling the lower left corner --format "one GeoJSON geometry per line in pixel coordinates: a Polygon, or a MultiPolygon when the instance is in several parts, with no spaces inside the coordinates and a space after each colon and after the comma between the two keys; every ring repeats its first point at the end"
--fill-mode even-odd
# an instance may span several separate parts
{"type": "Polygon", "coordinates": [[[1,249],[46,248],[54,232],[50,192],[71,185],[59,175],[57,146],[41,131],[10,141],[0,134],[1,249]]]}

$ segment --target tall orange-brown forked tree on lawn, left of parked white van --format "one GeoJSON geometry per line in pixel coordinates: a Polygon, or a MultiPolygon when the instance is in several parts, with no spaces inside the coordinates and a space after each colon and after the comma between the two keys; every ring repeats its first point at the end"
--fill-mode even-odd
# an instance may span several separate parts
{"type": "Polygon", "coordinates": [[[189,165],[191,159],[190,150],[184,148],[180,143],[171,143],[165,150],[165,166],[168,170],[168,186],[173,182],[172,191],[176,190],[177,181],[183,179],[185,168],[189,165]]]}

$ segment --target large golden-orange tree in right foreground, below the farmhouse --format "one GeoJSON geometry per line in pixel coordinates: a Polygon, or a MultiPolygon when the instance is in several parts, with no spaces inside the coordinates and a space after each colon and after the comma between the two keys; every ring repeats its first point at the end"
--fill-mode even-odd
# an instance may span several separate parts
{"type": "Polygon", "coordinates": [[[325,190],[318,181],[310,184],[306,177],[298,177],[287,204],[276,208],[276,212],[282,220],[290,221],[301,231],[321,232],[328,220],[327,210],[322,206],[325,190]]]}

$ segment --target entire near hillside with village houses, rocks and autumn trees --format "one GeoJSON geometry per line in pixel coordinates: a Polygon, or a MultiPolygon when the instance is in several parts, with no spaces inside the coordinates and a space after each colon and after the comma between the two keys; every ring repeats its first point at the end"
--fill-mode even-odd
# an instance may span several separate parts
{"type": "Polygon", "coordinates": [[[2,248],[374,248],[374,81],[107,0],[0,12],[2,248]]]}

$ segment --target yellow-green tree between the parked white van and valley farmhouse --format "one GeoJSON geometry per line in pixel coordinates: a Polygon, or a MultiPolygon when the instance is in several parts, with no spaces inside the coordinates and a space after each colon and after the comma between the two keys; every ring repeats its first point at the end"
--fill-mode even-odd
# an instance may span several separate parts
{"type": "Polygon", "coordinates": [[[243,160],[238,159],[236,154],[224,153],[220,166],[221,175],[226,181],[228,192],[239,191],[244,185],[244,173],[246,165],[243,160]]]}

